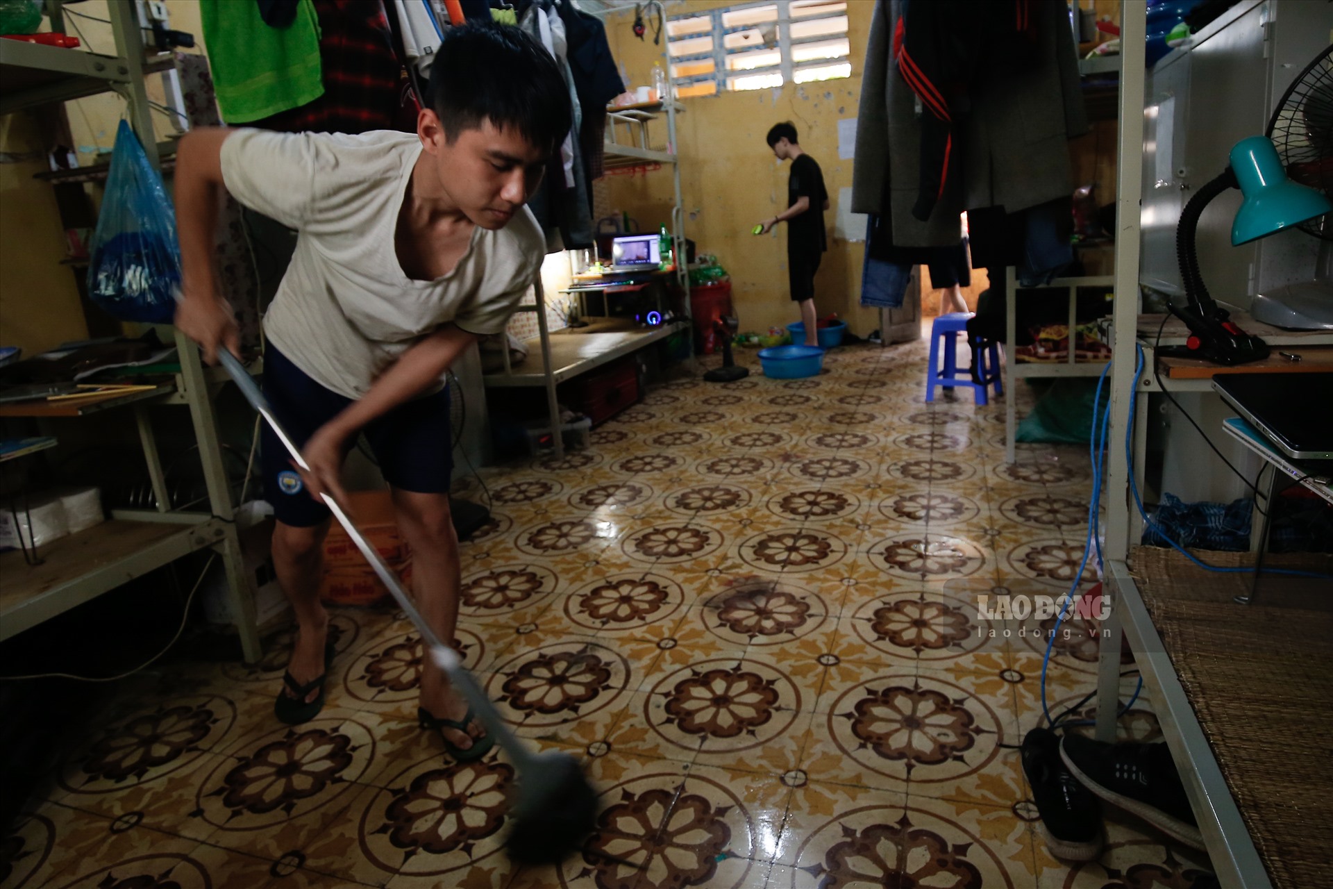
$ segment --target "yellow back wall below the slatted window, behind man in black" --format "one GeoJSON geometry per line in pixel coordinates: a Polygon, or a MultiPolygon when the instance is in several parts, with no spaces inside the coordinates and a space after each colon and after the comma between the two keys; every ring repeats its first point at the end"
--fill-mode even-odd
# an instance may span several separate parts
{"type": "MultiPolygon", "coordinates": [[[[726,5],[734,4],[685,0],[669,4],[668,13],[726,5]]],[[[816,276],[814,304],[821,316],[837,312],[860,336],[880,327],[878,312],[858,305],[864,245],[833,236],[838,188],[852,184],[852,161],[837,156],[837,121],[857,116],[861,63],[873,11],[874,4],[866,0],[848,3],[852,77],[681,101],[685,113],[677,117],[677,136],[685,236],[700,252],[716,253],[730,273],[742,331],[766,331],[800,320],[788,292],[785,227],[778,225],[776,233],[764,237],[750,235],[756,223],[786,208],[789,165],[777,161],[764,141],[769,127],[784,120],[796,124],[801,148],[822,168],[832,201],[824,215],[829,251],[816,276]]],[[[653,45],[652,31],[640,41],[631,31],[632,24],[632,12],[615,13],[607,19],[607,33],[631,84],[645,85],[651,83],[653,63],[663,59],[663,47],[653,45]]],[[[628,212],[643,229],[669,223],[673,199],[669,169],[647,176],[612,176],[608,183],[611,207],[628,212]]]]}

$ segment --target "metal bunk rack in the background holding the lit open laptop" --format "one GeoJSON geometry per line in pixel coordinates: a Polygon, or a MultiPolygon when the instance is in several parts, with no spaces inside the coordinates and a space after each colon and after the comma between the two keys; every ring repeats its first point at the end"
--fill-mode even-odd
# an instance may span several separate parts
{"type": "MultiPolygon", "coordinates": [[[[649,9],[645,12],[651,12],[652,8],[656,8],[656,11],[665,19],[665,9],[663,8],[661,0],[651,0],[648,5],[649,9]]],[[[669,100],[660,99],[656,103],[608,109],[607,137],[603,143],[605,153],[604,168],[615,171],[633,167],[644,167],[645,169],[653,165],[670,167],[676,197],[670,211],[672,248],[674,256],[677,257],[674,275],[677,284],[685,293],[684,307],[685,316],[688,319],[689,269],[682,261],[685,257],[685,211],[680,188],[680,144],[676,140],[676,116],[684,112],[684,108],[674,101],[674,81],[672,79],[670,57],[666,53],[665,44],[663,45],[663,63],[666,69],[666,93],[670,97],[669,100]],[[665,112],[666,119],[666,151],[657,151],[651,147],[648,124],[649,121],[659,120],[663,112],[665,112]],[[624,137],[620,132],[621,128],[625,131],[624,137]]],[[[551,331],[547,324],[547,299],[543,292],[540,276],[533,283],[533,292],[535,303],[529,305],[520,305],[519,311],[537,313],[537,345],[541,349],[541,372],[515,373],[513,368],[509,365],[509,349],[505,347],[501,349],[501,355],[504,356],[504,371],[501,373],[488,373],[484,377],[484,383],[487,388],[545,387],[547,412],[551,419],[551,429],[553,433],[552,446],[555,448],[556,460],[563,460],[565,449],[563,437],[559,435],[560,405],[556,399],[556,385],[564,380],[591,371],[600,364],[605,364],[607,361],[617,359],[623,355],[629,355],[631,352],[651,345],[652,343],[656,343],[678,329],[686,328],[688,320],[665,324],[648,331],[571,335],[568,337],[569,340],[577,337],[579,341],[568,345],[563,344],[559,349],[555,349],[560,353],[557,367],[557,359],[552,355],[553,347],[551,331]]]]}

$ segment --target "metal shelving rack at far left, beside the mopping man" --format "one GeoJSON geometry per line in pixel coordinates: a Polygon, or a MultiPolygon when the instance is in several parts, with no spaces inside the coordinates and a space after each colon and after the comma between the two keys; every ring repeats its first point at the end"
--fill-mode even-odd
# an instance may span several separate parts
{"type": "MultiPolygon", "coordinates": [[[[129,120],[149,159],[157,163],[148,96],[144,91],[144,44],[136,0],[108,0],[116,56],[0,40],[0,113],[65,101],[116,89],[129,100],[129,120]]],[[[51,0],[52,25],[61,28],[61,3],[51,0]]],[[[237,512],[223,464],[212,407],[209,375],[199,349],[176,332],[181,371],[175,385],[135,401],[140,444],[157,497],[156,510],[113,512],[109,521],[57,540],[44,562],[27,565],[17,552],[0,556],[0,640],[96,598],[181,556],[213,549],[227,574],[227,594],[241,652],[247,661],[261,656],[255,597],[245,574],[237,512]],[[147,405],[187,404],[204,466],[208,512],[173,509],[165,473],[149,424],[147,405]]],[[[99,409],[113,408],[104,403],[99,409]]],[[[76,412],[76,416],[80,412],[76,412]]]]}

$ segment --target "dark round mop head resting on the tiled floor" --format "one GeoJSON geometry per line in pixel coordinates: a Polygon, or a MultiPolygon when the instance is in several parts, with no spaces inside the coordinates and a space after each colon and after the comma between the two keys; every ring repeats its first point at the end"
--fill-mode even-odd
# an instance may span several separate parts
{"type": "Polygon", "coordinates": [[[592,833],[597,793],[572,756],[547,753],[537,757],[537,766],[523,776],[505,845],[517,864],[559,864],[592,833]]]}

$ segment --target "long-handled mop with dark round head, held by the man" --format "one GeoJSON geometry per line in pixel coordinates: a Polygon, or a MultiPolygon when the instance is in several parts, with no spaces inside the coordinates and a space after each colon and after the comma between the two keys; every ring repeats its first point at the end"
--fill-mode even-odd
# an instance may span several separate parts
{"type": "MultiPolygon", "coordinates": [[[[227,373],[240,387],[245,400],[272,427],[283,446],[292,454],[292,460],[301,469],[309,469],[300,449],[287,436],[264,393],[260,392],[241,363],[225,348],[219,349],[219,356],[227,373]]],[[[445,672],[453,688],[463,693],[487,732],[500,742],[500,746],[513,761],[519,773],[519,794],[512,812],[513,826],[505,840],[509,857],[520,864],[556,864],[571,852],[577,850],[592,832],[597,812],[597,794],[588,784],[579,761],[568,753],[533,753],[509,730],[495,704],[487,697],[472,673],[464,669],[459,654],[441,642],[421,618],[412,600],[399,584],[399,578],[384,564],[375,546],[352,524],[352,520],[332,497],[324,494],[324,502],[347,530],[356,548],[371,562],[371,568],[384,581],[393,598],[397,600],[399,608],[421,634],[423,652],[445,672]]]]}

